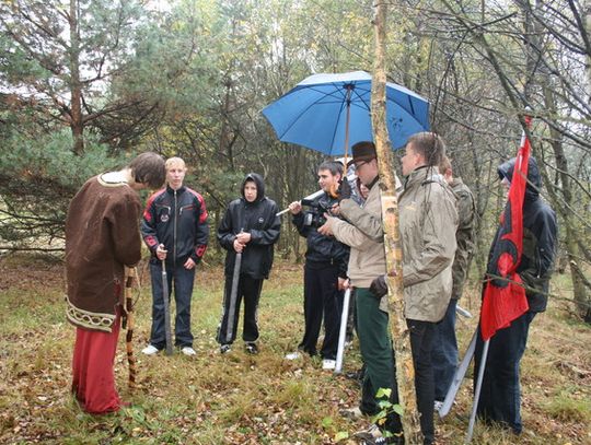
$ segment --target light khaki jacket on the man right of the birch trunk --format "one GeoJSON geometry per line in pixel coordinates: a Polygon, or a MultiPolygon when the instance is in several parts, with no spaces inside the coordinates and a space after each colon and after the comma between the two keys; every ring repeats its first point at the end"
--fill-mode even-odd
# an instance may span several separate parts
{"type": "Polygon", "coordinates": [[[398,197],[407,319],[437,323],[452,291],[457,211],[453,191],[437,169],[419,167],[398,197]]]}

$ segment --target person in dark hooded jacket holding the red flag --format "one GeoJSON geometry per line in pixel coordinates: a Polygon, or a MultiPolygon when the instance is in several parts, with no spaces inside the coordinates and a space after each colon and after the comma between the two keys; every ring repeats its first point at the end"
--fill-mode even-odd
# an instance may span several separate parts
{"type": "MultiPolygon", "coordinates": [[[[515,159],[503,163],[499,177],[509,187],[515,166],[515,159]]],[[[557,236],[556,214],[540,198],[542,178],[534,157],[528,164],[528,187],[523,201],[523,250],[517,268],[528,297],[529,311],[511,321],[508,328],[499,329],[490,339],[477,414],[485,422],[497,422],[511,429],[515,434],[522,431],[519,364],[528,342],[530,324],[537,313],[546,309],[548,283],[553,271],[557,236]]],[[[502,225],[501,225],[502,227],[502,225]]],[[[495,246],[500,242],[501,227],[497,231],[490,247],[489,265],[497,264],[495,246]]],[[[490,266],[489,266],[490,269],[490,266]]],[[[487,279],[493,279],[489,277],[487,279]]],[[[495,277],[497,280],[502,280],[495,277]]],[[[483,352],[483,340],[476,343],[474,375],[478,375],[483,352]]]]}

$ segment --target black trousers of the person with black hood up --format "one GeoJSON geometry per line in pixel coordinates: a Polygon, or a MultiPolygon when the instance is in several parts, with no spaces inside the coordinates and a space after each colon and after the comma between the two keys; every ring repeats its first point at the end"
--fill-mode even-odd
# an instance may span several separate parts
{"type": "Polygon", "coordinates": [[[223,291],[223,314],[218,328],[218,343],[231,344],[236,339],[236,329],[240,318],[240,306],[244,300],[244,327],[242,330],[242,339],[245,342],[258,340],[258,324],[257,309],[258,300],[260,298],[260,290],[263,289],[263,279],[252,278],[251,276],[241,274],[236,292],[234,319],[229,321],[230,317],[230,294],[232,292],[232,277],[225,276],[225,285],[223,291]],[[232,323],[232,336],[228,338],[228,324],[232,323]]]}

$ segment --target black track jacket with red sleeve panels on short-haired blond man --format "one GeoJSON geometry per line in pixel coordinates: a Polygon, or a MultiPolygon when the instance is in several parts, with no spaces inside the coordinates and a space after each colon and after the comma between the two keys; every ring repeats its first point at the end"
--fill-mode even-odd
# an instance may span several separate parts
{"type": "Polygon", "coordinates": [[[166,186],[157,191],[146,204],[141,236],[152,257],[158,245],[164,244],[167,264],[182,266],[189,257],[198,264],[209,237],[204,198],[185,186],[178,190],[166,186]]]}

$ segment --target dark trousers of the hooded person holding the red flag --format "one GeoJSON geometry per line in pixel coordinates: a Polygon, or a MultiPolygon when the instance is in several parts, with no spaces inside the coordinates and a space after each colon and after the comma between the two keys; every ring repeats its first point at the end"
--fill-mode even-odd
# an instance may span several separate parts
{"type": "MultiPolygon", "coordinates": [[[[485,421],[494,421],[521,433],[521,389],[519,364],[525,346],[528,332],[535,313],[529,312],[500,329],[490,339],[488,356],[483,378],[477,415],[485,421]]],[[[476,341],[474,376],[478,375],[484,342],[480,336],[476,341]]]]}

